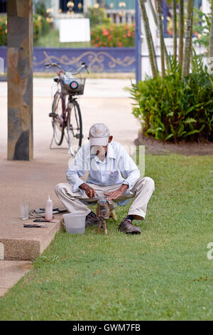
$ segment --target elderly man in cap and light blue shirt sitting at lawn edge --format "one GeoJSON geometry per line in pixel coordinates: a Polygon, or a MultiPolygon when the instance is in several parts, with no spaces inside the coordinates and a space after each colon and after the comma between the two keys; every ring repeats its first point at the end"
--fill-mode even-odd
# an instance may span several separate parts
{"type": "Polygon", "coordinates": [[[141,234],[133,220],[145,218],[155,183],[150,177],[140,178],[136,164],[119,143],[112,142],[112,138],[104,123],[92,125],[89,143],[80,148],[67,169],[69,183],[56,185],[55,193],[68,212],[85,213],[86,227],[97,225],[97,216],[86,205],[88,198],[95,201],[97,196],[107,197],[118,205],[126,205],[133,197],[128,215],[118,230],[141,234]]]}

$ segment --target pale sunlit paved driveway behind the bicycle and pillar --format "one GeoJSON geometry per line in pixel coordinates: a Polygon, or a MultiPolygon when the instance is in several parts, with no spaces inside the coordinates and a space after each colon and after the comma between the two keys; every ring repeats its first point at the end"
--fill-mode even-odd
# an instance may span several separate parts
{"type": "MultiPolygon", "coordinates": [[[[109,125],[114,140],[121,144],[133,144],[140,125],[131,114],[129,93],[124,87],[130,86],[130,80],[121,79],[88,79],[84,96],[80,97],[84,139],[87,138],[90,125],[106,123],[109,125]]],[[[54,83],[50,78],[34,78],[33,81],[33,135],[35,155],[46,151],[52,138],[53,130],[48,113],[51,110],[51,93],[54,83]]],[[[7,84],[0,82],[0,158],[6,158],[7,140],[7,84]]]]}

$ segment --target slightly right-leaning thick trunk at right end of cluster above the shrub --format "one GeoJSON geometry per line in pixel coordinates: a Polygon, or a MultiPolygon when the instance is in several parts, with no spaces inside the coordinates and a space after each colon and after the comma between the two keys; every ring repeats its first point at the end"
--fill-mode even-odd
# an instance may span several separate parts
{"type": "Polygon", "coordinates": [[[187,21],[185,33],[185,48],[182,63],[182,79],[190,73],[190,60],[192,56],[192,24],[194,0],[187,1],[187,21]]]}

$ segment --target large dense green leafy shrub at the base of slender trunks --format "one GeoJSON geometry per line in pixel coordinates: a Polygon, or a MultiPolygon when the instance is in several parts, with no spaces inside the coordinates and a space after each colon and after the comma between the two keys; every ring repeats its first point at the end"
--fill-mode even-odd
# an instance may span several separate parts
{"type": "Polygon", "coordinates": [[[133,115],[142,132],[158,140],[213,140],[213,80],[201,56],[192,59],[192,73],[181,80],[181,66],[170,58],[165,78],[132,84],[133,115]]]}

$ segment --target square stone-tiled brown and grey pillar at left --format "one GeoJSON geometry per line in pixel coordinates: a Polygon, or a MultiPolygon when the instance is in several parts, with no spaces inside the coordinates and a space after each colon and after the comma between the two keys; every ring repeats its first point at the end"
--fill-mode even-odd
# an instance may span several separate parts
{"type": "Polygon", "coordinates": [[[8,160],[33,159],[33,0],[8,0],[8,160]]]}

